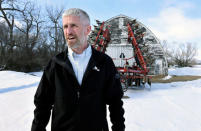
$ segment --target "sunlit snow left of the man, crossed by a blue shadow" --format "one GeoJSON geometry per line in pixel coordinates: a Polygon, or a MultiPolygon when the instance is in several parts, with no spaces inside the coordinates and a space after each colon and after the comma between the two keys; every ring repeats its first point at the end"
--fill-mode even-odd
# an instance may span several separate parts
{"type": "Polygon", "coordinates": [[[33,96],[40,77],[0,71],[0,130],[28,131],[33,119],[33,96]]]}

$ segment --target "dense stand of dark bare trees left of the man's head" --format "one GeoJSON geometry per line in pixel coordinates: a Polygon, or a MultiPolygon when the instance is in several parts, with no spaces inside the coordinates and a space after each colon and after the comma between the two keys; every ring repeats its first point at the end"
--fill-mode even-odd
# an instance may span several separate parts
{"type": "Polygon", "coordinates": [[[41,12],[29,0],[0,0],[0,70],[39,71],[65,49],[63,9],[41,12]]]}

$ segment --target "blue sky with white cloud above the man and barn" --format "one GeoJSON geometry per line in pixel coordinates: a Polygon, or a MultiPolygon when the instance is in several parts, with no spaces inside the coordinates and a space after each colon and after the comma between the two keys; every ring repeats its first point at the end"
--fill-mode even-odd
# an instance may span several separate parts
{"type": "MultiPolygon", "coordinates": [[[[81,8],[95,20],[105,21],[119,14],[136,18],[160,40],[191,42],[201,59],[200,0],[37,0],[39,5],[81,8]]],[[[172,46],[172,45],[170,45],[172,46]]]]}

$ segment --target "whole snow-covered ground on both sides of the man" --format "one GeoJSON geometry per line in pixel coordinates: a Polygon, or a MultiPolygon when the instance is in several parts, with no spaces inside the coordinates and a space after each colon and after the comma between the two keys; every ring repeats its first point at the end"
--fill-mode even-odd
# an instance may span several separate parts
{"type": "MultiPolygon", "coordinates": [[[[0,71],[0,131],[30,131],[41,74],[0,71]]],[[[171,75],[201,76],[201,66],[171,68],[166,79],[171,75]]],[[[126,131],[201,131],[201,79],[156,83],[151,91],[125,95],[126,131]]]]}

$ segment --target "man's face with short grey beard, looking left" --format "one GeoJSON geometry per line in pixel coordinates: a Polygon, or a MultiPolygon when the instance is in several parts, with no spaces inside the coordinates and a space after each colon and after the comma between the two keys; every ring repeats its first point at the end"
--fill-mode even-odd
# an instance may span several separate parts
{"type": "Polygon", "coordinates": [[[90,33],[90,25],[86,25],[79,16],[64,16],[63,29],[65,39],[70,48],[80,47],[86,44],[87,35],[90,33]]]}

